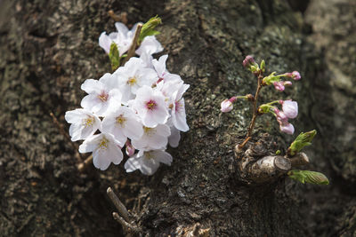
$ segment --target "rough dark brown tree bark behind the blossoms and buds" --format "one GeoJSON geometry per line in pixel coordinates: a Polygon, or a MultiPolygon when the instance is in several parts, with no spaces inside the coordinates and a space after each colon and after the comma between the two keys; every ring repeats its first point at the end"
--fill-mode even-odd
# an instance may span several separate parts
{"type": "MultiPolygon", "coordinates": [[[[187,233],[197,223],[210,236],[356,234],[355,14],[346,0],[0,1],[0,234],[122,235],[108,186],[128,209],[142,210],[150,236],[187,233]],[[63,115],[79,107],[80,84],[110,71],[97,43],[114,30],[109,10],[127,12],[129,24],[161,16],[168,68],[190,83],[190,131],[169,149],[172,166],[153,177],[126,174],[122,164],[78,173],[76,152],[49,115],[68,128],[63,115]],[[220,115],[219,105],[255,90],[241,66],[247,54],[265,59],[270,72],[303,75],[286,93],[263,88],[262,100],[298,100],[295,133],[319,132],[306,150],[308,168],[326,173],[330,186],[240,182],[233,147],[250,108],[241,101],[220,115]]],[[[291,139],[267,115],[249,145],[273,154],[291,139]]]]}

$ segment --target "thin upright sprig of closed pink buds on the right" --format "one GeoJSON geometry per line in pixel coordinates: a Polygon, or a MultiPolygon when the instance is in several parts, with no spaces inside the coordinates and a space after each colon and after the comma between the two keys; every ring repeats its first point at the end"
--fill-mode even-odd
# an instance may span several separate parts
{"type": "Polygon", "coordinates": [[[258,107],[257,100],[258,100],[259,92],[261,91],[263,86],[273,85],[276,90],[284,91],[285,86],[292,85],[292,82],[282,81],[281,78],[287,77],[295,81],[298,81],[301,79],[301,75],[297,71],[294,71],[292,73],[285,73],[281,75],[276,75],[276,72],[273,72],[271,73],[271,75],[263,76],[263,73],[265,71],[264,60],[261,62],[261,65],[258,65],[252,56],[247,56],[246,59],[243,60],[242,64],[244,67],[247,67],[247,69],[250,70],[257,77],[258,85],[257,85],[255,97],[252,95],[246,95],[246,96],[234,96],[231,97],[231,99],[224,99],[223,102],[221,103],[221,111],[223,113],[230,112],[233,108],[232,103],[234,101],[236,101],[237,99],[247,99],[253,102],[253,106],[254,106],[254,115],[253,115],[252,122],[249,126],[249,128],[251,129],[248,130],[247,137],[251,135],[251,130],[255,125],[255,117],[257,115],[263,115],[268,113],[271,113],[276,117],[277,122],[279,122],[279,129],[282,132],[285,132],[287,134],[293,134],[295,132],[295,128],[293,124],[288,122],[288,119],[294,119],[298,115],[297,102],[292,100],[275,100],[258,107]],[[282,106],[282,111],[280,111],[278,107],[274,107],[273,104],[280,104],[282,106]]]}

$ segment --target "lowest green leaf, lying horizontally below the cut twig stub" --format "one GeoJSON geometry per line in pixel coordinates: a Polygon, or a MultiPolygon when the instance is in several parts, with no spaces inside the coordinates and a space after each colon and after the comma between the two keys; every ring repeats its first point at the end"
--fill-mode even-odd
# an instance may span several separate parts
{"type": "Polygon", "coordinates": [[[311,171],[311,170],[290,170],[287,173],[289,178],[293,178],[302,184],[304,183],[309,183],[309,184],[314,184],[314,185],[325,185],[327,186],[329,184],[328,178],[316,171],[311,171]]]}

